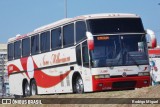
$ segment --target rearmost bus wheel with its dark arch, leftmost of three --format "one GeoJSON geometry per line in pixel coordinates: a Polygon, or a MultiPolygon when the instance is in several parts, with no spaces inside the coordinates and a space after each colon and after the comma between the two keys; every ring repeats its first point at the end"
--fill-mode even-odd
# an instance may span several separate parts
{"type": "Polygon", "coordinates": [[[27,79],[23,80],[22,89],[23,89],[22,91],[23,91],[24,97],[30,96],[30,86],[29,86],[27,79]]]}

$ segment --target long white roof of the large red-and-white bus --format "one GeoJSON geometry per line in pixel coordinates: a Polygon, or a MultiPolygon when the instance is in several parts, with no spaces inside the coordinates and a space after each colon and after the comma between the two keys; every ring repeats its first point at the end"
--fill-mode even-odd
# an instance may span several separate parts
{"type": "Polygon", "coordinates": [[[60,25],[64,25],[66,23],[73,22],[76,20],[88,20],[88,19],[98,19],[98,18],[139,18],[139,16],[136,14],[127,14],[127,13],[102,13],[102,14],[82,15],[74,18],[65,18],[65,19],[53,22],[51,24],[41,26],[28,34],[25,34],[25,35],[18,34],[16,35],[16,37],[8,39],[8,42],[17,41],[17,40],[26,38],[28,36],[38,34],[40,32],[43,32],[51,28],[58,27],[60,25]]]}

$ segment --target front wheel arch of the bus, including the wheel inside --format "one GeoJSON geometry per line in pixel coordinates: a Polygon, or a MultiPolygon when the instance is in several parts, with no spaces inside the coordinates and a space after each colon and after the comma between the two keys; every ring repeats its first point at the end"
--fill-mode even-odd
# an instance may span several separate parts
{"type": "Polygon", "coordinates": [[[79,72],[75,72],[72,76],[72,88],[74,93],[84,92],[84,84],[79,72]]]}

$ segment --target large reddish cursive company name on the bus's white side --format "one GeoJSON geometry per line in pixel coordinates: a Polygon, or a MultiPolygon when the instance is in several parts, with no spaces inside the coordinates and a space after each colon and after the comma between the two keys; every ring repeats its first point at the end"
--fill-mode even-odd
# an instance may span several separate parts
{"type": "Polygon", "coordinates": [[[52,54],[51,55],[51,59],[49,60],[45,60],[45,56],[43,57],[43,65],[49,65],[49,64],[59,64],[59,63],[65,63],[65,62],[69,62],[70,61],[70,57],[60,57],[60,53],[58,54],[52,54]]]}

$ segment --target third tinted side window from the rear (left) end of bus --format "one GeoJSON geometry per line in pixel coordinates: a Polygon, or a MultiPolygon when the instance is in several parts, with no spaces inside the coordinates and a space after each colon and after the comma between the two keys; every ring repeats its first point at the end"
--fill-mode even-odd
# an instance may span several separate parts
{"type": "Polygon", "coordinates": [[[26,38],[22,40],[22,56],[30,55],[30,38],[26,38]]]}

